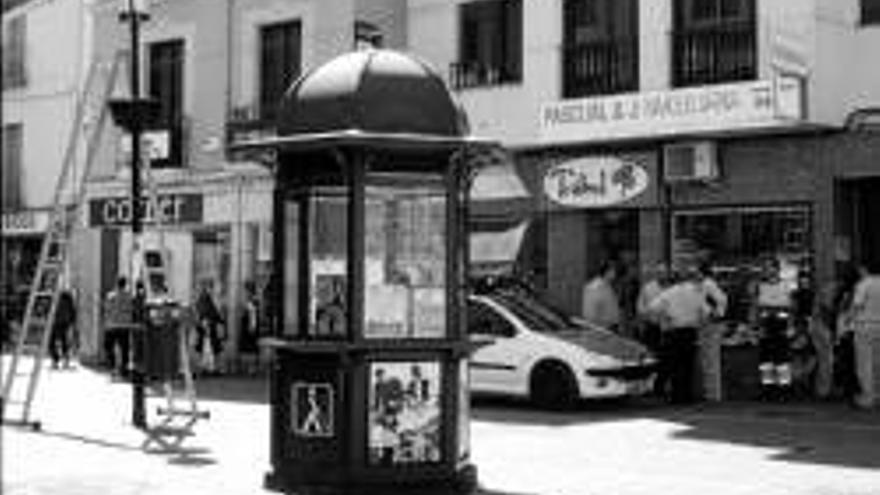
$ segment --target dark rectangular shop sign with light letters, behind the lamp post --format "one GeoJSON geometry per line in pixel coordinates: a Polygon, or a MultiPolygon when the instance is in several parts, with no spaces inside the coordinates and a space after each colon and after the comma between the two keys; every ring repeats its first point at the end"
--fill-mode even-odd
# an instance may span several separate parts
{"type": "MultiPolygon", "coordinates": [[[[159,194],[141,199],[144,224],[179,225],[202,221],[198,194],[159,194]]],[[[89,225],[124,227],[131,224],[131,198],[99,198],[89,202],[89,225]]]]}

